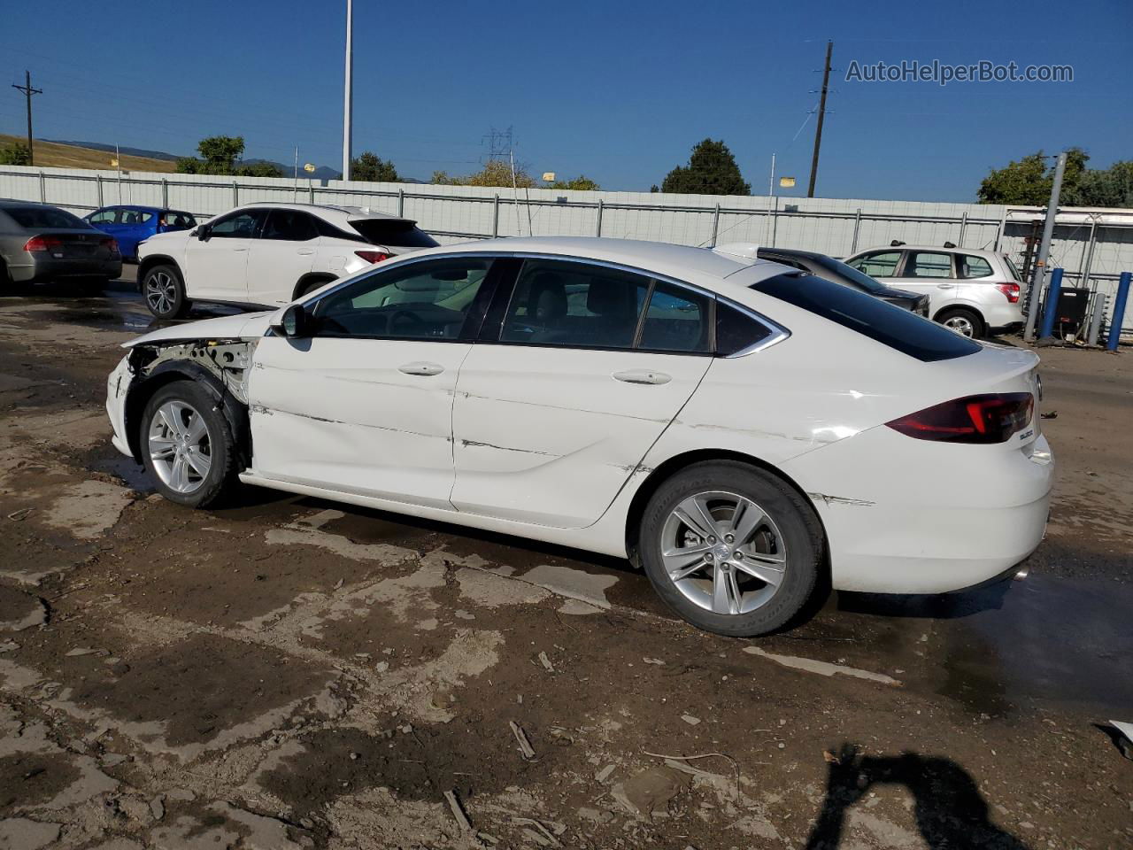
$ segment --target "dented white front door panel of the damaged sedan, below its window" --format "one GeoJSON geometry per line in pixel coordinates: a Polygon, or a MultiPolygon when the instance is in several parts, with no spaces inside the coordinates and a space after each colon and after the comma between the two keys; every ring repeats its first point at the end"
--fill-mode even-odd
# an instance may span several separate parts
{"type": "Polygon", "coordinates": [[[451,509],[452,394],[469,348],[265,338],[248,381],[254,471],[451,509]]]}

